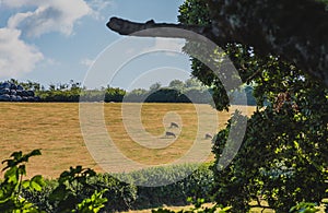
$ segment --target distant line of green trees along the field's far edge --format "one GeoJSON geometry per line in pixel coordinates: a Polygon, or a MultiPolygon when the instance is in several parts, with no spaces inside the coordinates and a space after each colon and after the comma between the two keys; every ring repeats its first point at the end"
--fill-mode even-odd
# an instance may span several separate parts
{"type": "MultiPolygon", "coordinates": [[[[33,91],[35,97],[37,97],[35,99],[38,102],[212,103],[211,88],[203,86],[201,82],[195,79],[188,79],[185,82],[173,80],[168,86],[154,83],[149,90],[136,88],[130,92],[119,87],[110,87],[109,85],[97,90],[89,90],[82,87],[81,83],[72,80],[69,83],[50,84],[48,88],[32,81],[17,82],[11,79],[5,83],[20,85],[25,91],[33,91]]],[[[246,86],[245,92],[248,105],[255,105],[256,100],[251,94],[253,87],[246,86]]],[[[237,95],[234,94],[234,96],[236,97],[237,95]]]]}

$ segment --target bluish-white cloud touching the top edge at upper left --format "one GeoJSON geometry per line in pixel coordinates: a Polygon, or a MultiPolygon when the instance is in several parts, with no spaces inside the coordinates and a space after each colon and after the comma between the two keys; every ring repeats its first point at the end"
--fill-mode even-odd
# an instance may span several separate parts
{"type": "Polygon", "coordinates": [[[74,23],[93,11],[83,0],[2,0],[2,3],[9,8],[34,7],[34,10],[16,13],[8,21],[8,27],[20,28],[27,36],[49,32],[71,35],[74,23]]]}

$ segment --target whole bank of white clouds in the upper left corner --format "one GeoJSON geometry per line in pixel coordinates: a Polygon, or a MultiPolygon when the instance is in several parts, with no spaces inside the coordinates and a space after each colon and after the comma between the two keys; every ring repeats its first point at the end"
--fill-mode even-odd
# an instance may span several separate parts
{"type": "MultiPolygon", "coordinates": [[[[72,35],[79,20],[99,16],[112,3],[112,0],[0,0],[1,7],[15,12],[8,19],[7,27],[0,28],[0,76],[15,78],[36,66],[60,63],[44,57],[35,46],[23,40],[24,36],[38,37],[51,32],[72,35]]],[[[81,61],[84,66],[92,62],[81,61]]]]}

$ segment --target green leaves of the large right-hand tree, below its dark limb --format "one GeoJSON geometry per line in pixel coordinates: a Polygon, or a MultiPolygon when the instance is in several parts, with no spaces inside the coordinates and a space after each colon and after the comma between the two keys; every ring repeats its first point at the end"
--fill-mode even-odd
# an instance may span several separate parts
{"type": "MultiPolygon", "coordinates": [[[[204,11],[214,10],[198,0],[186,0],[180,7],[179,21],[210,24],[216,20],[209,20],[211,15],[204,11]]],[[[192,45],[187,44],[185,50],[192,45]]],[[[215,200],[231,205],[235,212],[247,212],[249,201],[256,200],[260,205],[261,199],[277,212],[288,212],[302,201],[320,203],[328,196],[328,90],[320,80],[280,57],[259,57],[253,47],[236,43],[224,44],[224,49],[242,80],[254,86],[258,110],[248,119],[246,135],[232,164],[223,170],[212,167],[218,184],[215,200]],[[261,108],[265,102],[268,106],[261,108]]],[[[216,109],[229,108],[229,96],[209,68],[192,59],[192,74],[213,87],[216,109]]],[[[213,146],[216,164],[227,149],[233,125],[230,121],[218,133],[213,146]]]]}

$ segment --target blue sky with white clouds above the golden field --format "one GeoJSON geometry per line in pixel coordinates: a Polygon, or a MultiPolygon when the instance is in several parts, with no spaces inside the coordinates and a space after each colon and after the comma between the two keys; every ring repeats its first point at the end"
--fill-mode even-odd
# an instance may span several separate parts
{"type": "MultiPolygon", "coordinates": [[[[0,81],[31,80],[46,87],[70,80],[83,82],[87,73],[93,73],[91,64],[102,61],[102,68],[110,69],[118,60],[113,54],[106,58],[106,49],[128,43],[121,40],[129,38],[106,27],[109,17],[176,23],[181,3],[183,0],[0,0],[0,81]]],[[[117,51],[181,45],[183,40],[143,38],[132,43],[133,47],[121,45],[117,51]]],[[[126,90],[149,87],[155,82],[166,85],[174,79],[187,79],[189,69],[186,55],[150,52],[121,64],[115,78],[105,78],[103,83],[126,90]]]]}

